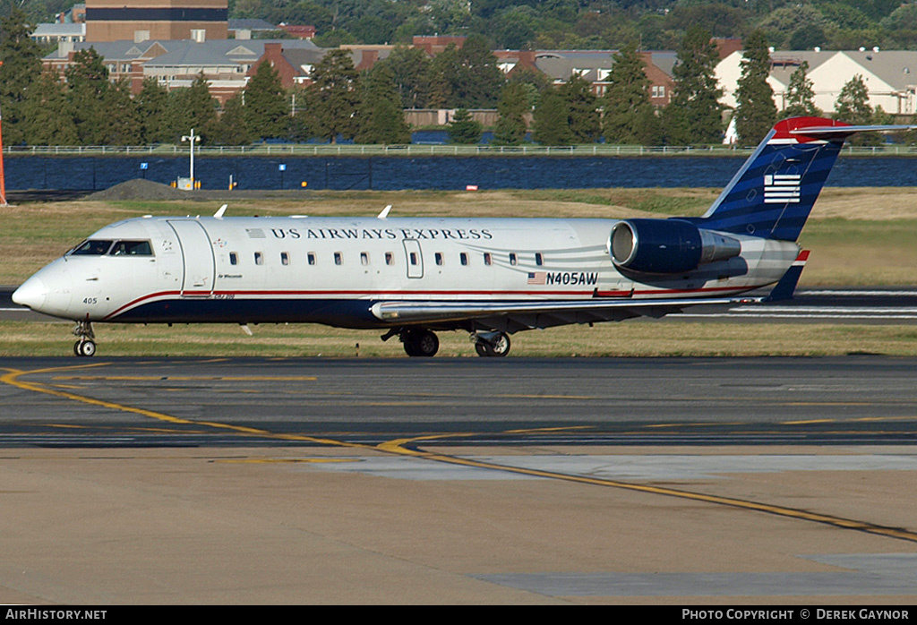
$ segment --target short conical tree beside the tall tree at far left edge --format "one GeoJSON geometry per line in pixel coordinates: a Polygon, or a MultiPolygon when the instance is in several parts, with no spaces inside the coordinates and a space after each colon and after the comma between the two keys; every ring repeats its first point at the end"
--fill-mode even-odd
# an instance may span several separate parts
{"type": "Polygon", "coordinates": [[[28,145],[75,146],[79,143],[67,97],[56,72],[41,72],[26,101],[24,114],[28,145]]]}

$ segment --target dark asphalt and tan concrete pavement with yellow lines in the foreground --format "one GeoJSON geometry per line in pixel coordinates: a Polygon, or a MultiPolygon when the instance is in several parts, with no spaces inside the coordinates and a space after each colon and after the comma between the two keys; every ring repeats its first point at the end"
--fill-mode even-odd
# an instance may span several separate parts
{"type": "Polygon", "coordinates": [[[917,359],[0,359],[4,603],[913,604],[917,359]]]}

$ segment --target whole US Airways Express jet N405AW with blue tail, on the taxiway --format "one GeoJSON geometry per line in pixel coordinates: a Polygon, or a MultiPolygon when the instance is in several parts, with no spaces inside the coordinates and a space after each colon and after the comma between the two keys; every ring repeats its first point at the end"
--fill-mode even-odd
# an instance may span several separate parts
{"type": "Polygon", "coordinates": [[[662,317],[696,304],[787,298],[796,241],[846,137],[907,126],[779,122],[702,217],[471,219],[138,217],[104,228],[29,278],[13,300],[76,322],[325,323],[398,336],[434,356],[436,332],[481,356],[511,334],[662,317]],[[775,285],[768,297],[742,294],[775,285]]]}

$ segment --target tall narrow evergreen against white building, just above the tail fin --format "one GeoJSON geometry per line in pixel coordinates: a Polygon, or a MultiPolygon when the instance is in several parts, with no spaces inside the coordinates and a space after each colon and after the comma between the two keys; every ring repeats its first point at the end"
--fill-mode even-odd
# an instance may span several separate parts
{"type": "Polygon", "coordinates": [[[770,52],[764,33],[746,38],[741,75],[735,90],[735,130],[746,145],[757,145],[777,120],[774,90],[768,84],[770,52]]]}

